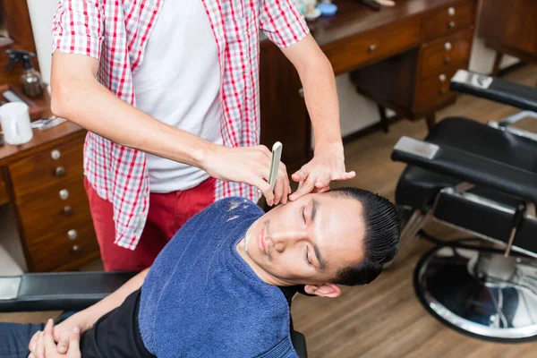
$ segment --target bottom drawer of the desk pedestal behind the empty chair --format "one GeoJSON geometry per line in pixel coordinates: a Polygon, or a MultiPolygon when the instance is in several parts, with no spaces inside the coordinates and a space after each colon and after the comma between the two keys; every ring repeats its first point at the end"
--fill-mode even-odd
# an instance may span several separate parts
{"type": "Polygon", "coordinates": [[[433,75],[425,80],[417,81],[413,107],[417,111],[436,107],[444,101],[456,96],[449,90],[449,81],[457,68],[452,66],[448,71],[433,75]]]}

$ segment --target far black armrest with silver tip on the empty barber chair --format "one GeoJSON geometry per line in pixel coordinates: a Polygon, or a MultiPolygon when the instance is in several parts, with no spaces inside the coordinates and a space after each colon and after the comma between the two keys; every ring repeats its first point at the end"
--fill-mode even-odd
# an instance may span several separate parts
{"type": "Polygon", "coordinates": [[[458,70],[449,89],[537,112],[537,89],[485,74],[458,70]]]}

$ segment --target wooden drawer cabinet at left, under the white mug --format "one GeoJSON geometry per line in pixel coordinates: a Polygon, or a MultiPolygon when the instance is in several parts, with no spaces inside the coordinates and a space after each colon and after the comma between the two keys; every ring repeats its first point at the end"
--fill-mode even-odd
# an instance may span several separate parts
{"type": "MultiPolygon", "coordinates": [[[[47,93],[35,100],[51,115],[47,93]]],[[[86,131],[64,122],[21,146],[0,147],[0,204],[13,207],[30,271],[69,270],[98,258],[83,186],[86,131]]]]}

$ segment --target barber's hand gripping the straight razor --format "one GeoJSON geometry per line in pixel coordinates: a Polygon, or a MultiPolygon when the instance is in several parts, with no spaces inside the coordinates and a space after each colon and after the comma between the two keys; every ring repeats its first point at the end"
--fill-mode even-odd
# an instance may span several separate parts
{"type": "Polygon", "coordinates": [[[272,153],[265,146],[230,148],[211,147],[210,154],[201,163],[209,175],[228,182],[248,183],[257,187],[269,206],[286,204],[291,192],[286,166],[280,163],[274,192],[268,184],[272,153]]]}

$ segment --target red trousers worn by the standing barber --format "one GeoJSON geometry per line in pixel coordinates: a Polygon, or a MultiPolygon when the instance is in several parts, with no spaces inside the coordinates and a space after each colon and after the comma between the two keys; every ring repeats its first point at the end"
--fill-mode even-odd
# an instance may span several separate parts
{"type": "Polygon", "coordinates": [[[114,243],[115,224],[112,203],[102,199],[87,179],[84,187],[90,200],[93,226],[97,234],[105,270],[142,270],[152,265],[158,252],[189,218],[207,208],[215,198],[214,178],[182,192],[150,193],[149,214],[135,250],[114,243]]]}

